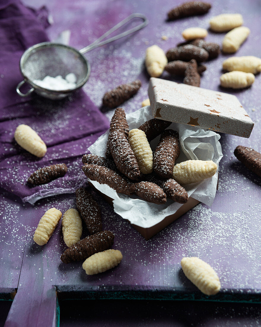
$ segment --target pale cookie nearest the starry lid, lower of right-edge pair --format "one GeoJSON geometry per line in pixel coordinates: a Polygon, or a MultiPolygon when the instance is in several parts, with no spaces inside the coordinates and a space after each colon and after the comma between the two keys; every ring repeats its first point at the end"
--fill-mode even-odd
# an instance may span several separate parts
{"type": "Polygon", "coordinates": [[[252,73],[239,72],[237,70],[225,73],[220,77],[220,85],[232,89],[243,89],[253,84],[255,76],[252,73]]]}

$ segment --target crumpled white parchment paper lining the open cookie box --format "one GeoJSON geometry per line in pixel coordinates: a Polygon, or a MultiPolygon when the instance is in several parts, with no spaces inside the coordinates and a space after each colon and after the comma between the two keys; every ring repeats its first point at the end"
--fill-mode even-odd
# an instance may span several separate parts
{"type": "MultiPolygon", "coordinates": [[[[138,128],[145,121],[152,119],[150,106],[143,107],[135,112],[126,114],[126,119],[130,130],[138,128]]],[[[198,129],[189,125],[172,123],[168,129],[177,130],[180,141],[180,156],[176,163],[186,160],[213,160],[217,165],[223,157],[220,135],[205,129],[198,129]]],[[[91,145],[88,150],[96,155],[105,156],[109,130],[101,135],[99,139],[91,145]]],[[[152,150],[159,142],[160,136],[151,141],[152,150]]],[[[203,202],[208,206],[212,205],[215,198],[218,181],[218,169],[216,174],[207,180],[199,183],[186,185],[185,189],[189,197],[203,202]]],[[[149,203],[137,196],[126,196],[118,194],[114,189],[97,181],[92,184],[103,194],[113,198],[114,211],[124,219],[128,219],[132,224],[149,228],[156,225],[166,216],[174,214],[182,205],[167,199],[165,204],[149,203]]]]}

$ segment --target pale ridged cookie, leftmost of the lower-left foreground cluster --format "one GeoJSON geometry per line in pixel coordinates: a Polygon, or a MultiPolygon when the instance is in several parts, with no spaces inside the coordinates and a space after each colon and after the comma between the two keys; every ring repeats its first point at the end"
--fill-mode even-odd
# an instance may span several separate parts
{"type": "Polygon", "coordinates": [[[61,219],[62,213],[60,210],[51,208],[46,211],[42,216],[34,234],[34,241],[38,245],[44,245],[48,242],[52,236],[59,220],[61,219]]]}

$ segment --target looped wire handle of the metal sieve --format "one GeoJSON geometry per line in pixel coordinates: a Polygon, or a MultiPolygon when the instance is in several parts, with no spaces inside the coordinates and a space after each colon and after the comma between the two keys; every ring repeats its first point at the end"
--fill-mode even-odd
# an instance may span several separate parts
{"type": "Polygon", "coordinates": [[[118,40],[119,38],[122,38],[126,35],[129,35],[133,32],[136,32],[138,31],[139,29],[145,27],[146,25],[148,24],[148,20],[146,18],[146,16],[144,16],[143,14],[139,14],[139,13],[134,13],[134,14],[131,14],[130,16],[126,17],[124,20],[122,20],[121,22],[119,22],[118,24],[116,24],[115,26],[113,26],[111,29],[109,29],[107,32],[105,32],[102,36],[99,37],[99,39],[97,39],[96,41],[94,41],[93,43],[85,46],[85,48],[79,50],[80,53],[86,53],[92,49],[95,49],[97,48],[98,46],[101,46],[101,45],[104,45],[104,44],[107,44],[107,43],[110,43],[112,41],[115,41],[115,40],[118,40]],[[141,18],[143,19],[143,23],[141,23],[140,25],[137,25],[125,32],[122,32],[118,35],[115,35],[103,42],[100,42],[101,40],[105,39],[108,35],[110,35],[112,32],[114,32],[116,29],[118,29],[119,27],[123,26],[124,24],[126,24],[127,22],[129,22],[131,19],[133,18],[141,18]]]}

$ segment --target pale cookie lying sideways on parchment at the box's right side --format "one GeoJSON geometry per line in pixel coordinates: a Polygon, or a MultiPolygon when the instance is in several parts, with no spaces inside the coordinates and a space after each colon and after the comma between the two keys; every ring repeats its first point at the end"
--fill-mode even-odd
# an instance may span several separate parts
{"type": "Polygon", "coordinates": [[[217,164],[212,160],[188,160],[174,166],[173,179],[179,184],[191,184],[212,177],[216,171],[217,164]]]}

